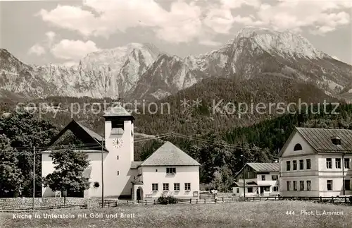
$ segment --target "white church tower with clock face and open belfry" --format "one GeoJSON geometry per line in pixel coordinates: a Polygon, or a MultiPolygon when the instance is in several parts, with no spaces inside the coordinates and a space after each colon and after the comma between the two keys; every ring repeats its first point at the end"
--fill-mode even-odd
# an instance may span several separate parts
{"type": "Polygon", "coordinates": [[[106,112],[104,159],[104,196],[130,197],[132,195],[131,163],[134,160],[134,117],[121,106],[106,112]]]}

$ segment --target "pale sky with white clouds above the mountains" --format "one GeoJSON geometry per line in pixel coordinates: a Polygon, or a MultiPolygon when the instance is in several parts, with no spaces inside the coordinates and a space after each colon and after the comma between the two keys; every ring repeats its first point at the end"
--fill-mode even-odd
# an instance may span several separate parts
{"type": "Polygon", "coordinates": [[[248,25],[298,32],[352,64],[351,0],[0,0],[0,13],[0,47],[27,64],[70,66],[130,42],[205,54],[248,25]]]}

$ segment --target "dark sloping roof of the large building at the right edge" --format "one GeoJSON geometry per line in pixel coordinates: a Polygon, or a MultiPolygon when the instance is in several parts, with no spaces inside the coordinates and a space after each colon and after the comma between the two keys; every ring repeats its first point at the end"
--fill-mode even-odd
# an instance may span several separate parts
{"type": "Polygon", "coordinates": [[[296,128],[296,131],[317,152],[352,152],[352,131],[347,129],[296,128]],[[334,145],[332,138],[339,137],[341,145],[334,145]]]}

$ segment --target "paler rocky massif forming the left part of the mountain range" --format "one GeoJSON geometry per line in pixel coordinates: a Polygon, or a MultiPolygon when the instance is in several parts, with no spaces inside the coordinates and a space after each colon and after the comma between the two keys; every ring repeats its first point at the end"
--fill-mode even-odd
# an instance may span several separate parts
{"type": "Polygon", "coordinates": [[[88,54],[77,66],[31,66],[0,49],[0,85],[31,97],[123,97],[158,54],[153,44],[131,43],[88,54]]]}

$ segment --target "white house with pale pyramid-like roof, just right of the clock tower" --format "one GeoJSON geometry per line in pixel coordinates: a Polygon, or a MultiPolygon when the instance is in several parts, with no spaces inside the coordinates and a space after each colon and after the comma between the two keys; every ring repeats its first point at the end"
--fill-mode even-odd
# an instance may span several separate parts
{"type": "Polygon", "coordinates": [[[199,198],[199,162],[170,142],[137,165],[134,200],[175,196],[199,198]]]}

